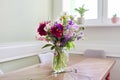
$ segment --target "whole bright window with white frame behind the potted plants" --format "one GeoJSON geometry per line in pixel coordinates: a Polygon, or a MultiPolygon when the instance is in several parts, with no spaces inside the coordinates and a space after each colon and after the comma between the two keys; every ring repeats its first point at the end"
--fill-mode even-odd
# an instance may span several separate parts
{"type": "Polygon", "coordinates": [[[118,0],[63,0],[63,11],[79,16],[74,10],[82,5],[89,9],[85,13],[86,23],[110,23],[110,18],[120,16],[118,0]]]}

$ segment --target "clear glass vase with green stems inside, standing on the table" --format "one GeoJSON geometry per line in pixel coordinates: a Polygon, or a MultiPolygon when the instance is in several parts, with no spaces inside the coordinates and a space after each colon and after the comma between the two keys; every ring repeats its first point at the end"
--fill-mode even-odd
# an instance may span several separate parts
{"type": "Polygon", "coordinates": [[[53,71],[54,73],[61,73],[65,71],[67,66],[67,54],[63,48],[57,47],[53,57],[53,71]]]}

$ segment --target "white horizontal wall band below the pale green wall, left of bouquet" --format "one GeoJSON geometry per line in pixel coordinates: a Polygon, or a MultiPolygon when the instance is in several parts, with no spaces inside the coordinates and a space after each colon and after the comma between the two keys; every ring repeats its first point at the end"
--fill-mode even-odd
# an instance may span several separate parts
{"type": "Polygon", "coordinates": [[[1,44],[0,63],[50,51],[50,48],[42,49],[45,44],[42,41],[1,44]]]}

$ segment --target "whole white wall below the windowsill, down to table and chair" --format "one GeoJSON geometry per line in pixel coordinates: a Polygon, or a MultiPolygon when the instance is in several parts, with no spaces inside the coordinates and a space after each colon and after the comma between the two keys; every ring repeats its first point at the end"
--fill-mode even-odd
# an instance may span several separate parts
{"type": "Polygon", "coordinates": [[[120,26],[86,27],[85,40],[76,41],[76,49],[83,52],[86,49],[103,49],[108,56],[120,57],[120,26]]]}

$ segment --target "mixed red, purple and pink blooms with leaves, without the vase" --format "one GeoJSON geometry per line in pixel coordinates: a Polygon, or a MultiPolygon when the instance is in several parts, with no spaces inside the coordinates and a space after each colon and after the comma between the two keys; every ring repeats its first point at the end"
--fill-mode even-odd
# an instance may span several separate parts
{"type": "Polygon", "coordinates": [[[74,41],[83,38],[84,27],[76,24],[72,15],[66,13],[60,16],[58,21],[44,21],[39,24],[37,32],[38,40],[47,41],[43,48],[51,46],[51,50],[57,48],[74,48],[74,41]]]}

